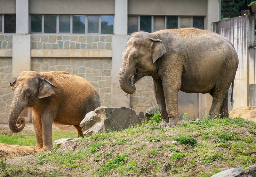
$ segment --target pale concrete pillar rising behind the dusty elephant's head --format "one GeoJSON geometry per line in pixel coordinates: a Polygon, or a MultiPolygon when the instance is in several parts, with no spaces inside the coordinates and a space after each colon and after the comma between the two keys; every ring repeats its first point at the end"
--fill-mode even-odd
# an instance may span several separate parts
{"type": "Polygon", "coordinates": [[[29,28],[28,0],[16,0],[16,34],[12,36],[12,77],[22,71],[30,71],[31,41],[29,28]]]}

